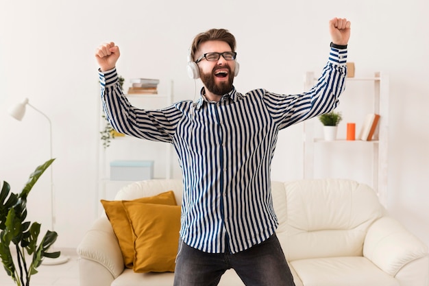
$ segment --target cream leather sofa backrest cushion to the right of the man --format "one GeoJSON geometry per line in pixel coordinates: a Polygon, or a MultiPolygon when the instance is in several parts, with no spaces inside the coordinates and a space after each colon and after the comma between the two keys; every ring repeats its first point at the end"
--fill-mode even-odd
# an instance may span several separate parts
{"type": "Polygon", "coordinates": [[[273,183],[276,233],[286,259],[363,256],[369,226],[382,216],[376,193],[352,180],[273,183]]]}

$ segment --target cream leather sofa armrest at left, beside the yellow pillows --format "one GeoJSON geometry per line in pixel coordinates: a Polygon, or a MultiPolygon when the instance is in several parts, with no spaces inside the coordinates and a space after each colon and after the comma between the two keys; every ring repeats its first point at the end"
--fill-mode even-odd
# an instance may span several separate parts
{"type": "Polygon", "coordinates": [[[113,281],[125,268],[117,237],[106,216],[97,219],[84,235],[77,246],[77,254],[79,264],[83,265],[84,261],[91,261],[89,264],[92,265],[92,270],[88,273],[88,277],[82,277],[85,275],[84,273],[79,275],[81,276],[80,281],[92,281],[92,285],[101,285],[94,281],[97,277],[103,281],[113,281]],[[110,273],[112,277],[100,277],[106,276],[107,273],[110,273]]]}

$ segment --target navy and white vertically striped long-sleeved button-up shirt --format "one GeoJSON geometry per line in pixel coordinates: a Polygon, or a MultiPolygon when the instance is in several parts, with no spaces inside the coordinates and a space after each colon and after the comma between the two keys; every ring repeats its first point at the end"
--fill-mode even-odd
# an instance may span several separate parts
{"type": "Polygon", "coordinates": [[[275,232],[270,172],[278,132],[336,107],[346,58],[347,49],[331,47],[317,84],[297,95],[233,88],[219,102],[208,102],[203,88],[197,102],[143,110],[127,101],[112,69],[99,72],[101,99],[115,130],[175,147],[184,182],[184,243],[204,252],[236,253],[275,232]]]}

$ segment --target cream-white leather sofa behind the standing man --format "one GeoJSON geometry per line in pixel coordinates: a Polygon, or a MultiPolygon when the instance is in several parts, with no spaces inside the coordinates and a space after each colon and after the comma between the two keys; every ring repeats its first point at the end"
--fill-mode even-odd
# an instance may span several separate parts
{"type": "MultiPolygon", "coordinates": [[[[121,189],[115,200],[173,190],[180,180],[147,180],[121,189]]],[[[373,189],[353,180],[272,182],[278,239],[297,286],[428,286],[428,248],[389,217],[373,189]]],[[[77,248],[81,286],[173,285],[173,273],[125,269],[112,226],[102,215],[77,248]]],[[[221,286],[243,285],[234,270],[221,286]]]]}

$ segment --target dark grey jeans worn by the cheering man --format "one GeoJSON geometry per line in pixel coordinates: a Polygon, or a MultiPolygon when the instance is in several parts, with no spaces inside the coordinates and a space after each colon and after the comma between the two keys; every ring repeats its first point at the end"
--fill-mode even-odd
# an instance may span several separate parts
{"type": "Polygon", "coordinates": [[[243,252],[207,253],[180,241],[174,286],[215,286],[233,268],[247,286],[294,286],[277,236],[243,252]]]}

